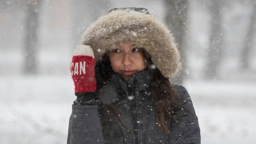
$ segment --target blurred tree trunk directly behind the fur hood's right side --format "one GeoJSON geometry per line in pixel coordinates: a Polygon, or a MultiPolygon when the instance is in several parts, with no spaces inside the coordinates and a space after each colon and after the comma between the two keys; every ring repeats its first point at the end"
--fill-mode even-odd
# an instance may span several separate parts
{"type": "Polygon", "coordinates": [[[178,47],[181,54],[181,63],[183,64],[183,70],[177,79],[171,80],[172,83],[182,84],[186,78],[187,64],[186,64],[186,50],[187,50],[187,10],[189,6],[188,0],[165,0],[165,21],[171,32],[174,33],[174,37],[178,42],[178,47]]]}

